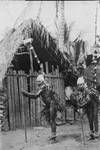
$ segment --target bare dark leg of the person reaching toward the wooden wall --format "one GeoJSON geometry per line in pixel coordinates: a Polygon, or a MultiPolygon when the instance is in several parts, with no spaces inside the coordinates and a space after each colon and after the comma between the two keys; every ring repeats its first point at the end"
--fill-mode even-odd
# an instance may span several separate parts
{"type": "Polygon", "coordinates": [[[56,117],[57,117],[57,106],[54,101],[50,103],[50,124],[52,137],[56,136],[56,117]]]}

